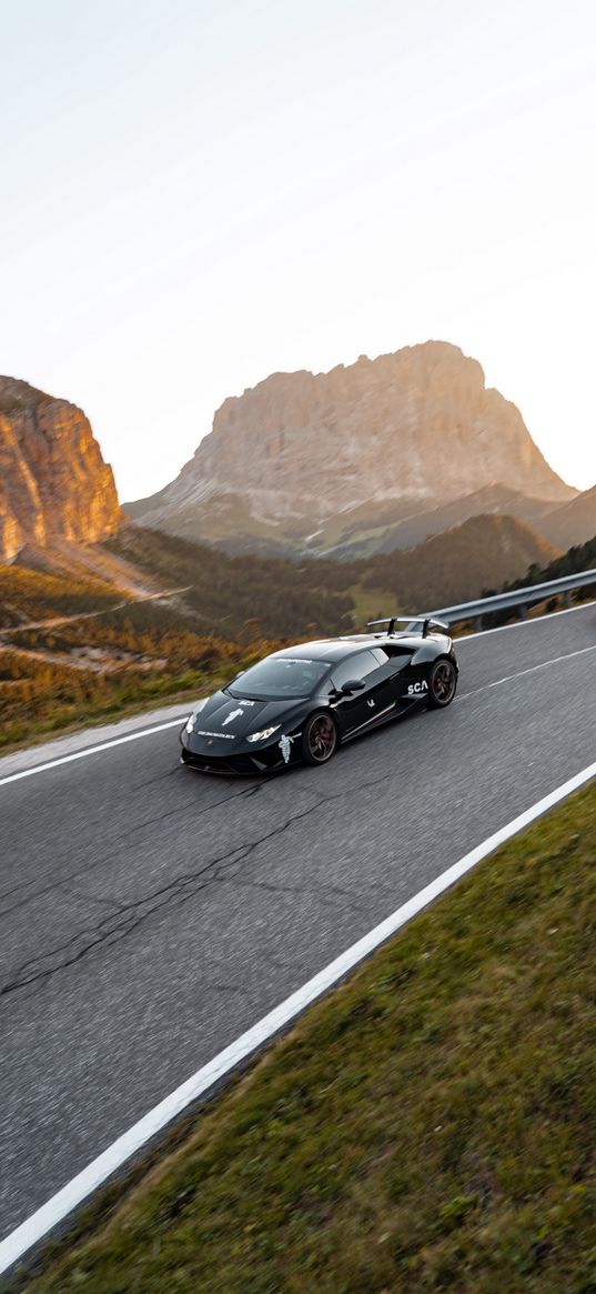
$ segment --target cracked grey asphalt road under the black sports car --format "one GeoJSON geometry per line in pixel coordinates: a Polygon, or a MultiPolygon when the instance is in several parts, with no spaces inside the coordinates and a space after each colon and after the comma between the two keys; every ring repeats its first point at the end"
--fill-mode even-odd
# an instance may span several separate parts
{"type": "MultiPolygon", "coordinates": [[[[209,779],[178,765],[169,729],[0,784],[0,1238],[596,758],[596,604],[464,639],[459,657],[450,709],[325,769],[209,779]]],[[[111,735],[8,757],[0,779],[111,735]]]]}

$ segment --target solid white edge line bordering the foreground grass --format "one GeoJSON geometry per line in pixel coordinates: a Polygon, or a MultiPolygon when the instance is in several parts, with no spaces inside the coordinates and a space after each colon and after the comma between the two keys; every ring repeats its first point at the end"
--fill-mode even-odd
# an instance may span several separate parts
{"type": "Polygon", "coordinates": [[[374,930],[370,930],[362,939],[353,943],[350,949],[346,949],[335,961],[331,961],[323,970],[313,976],[301,989],[297,989],[290,998],[286,998],[286,1002],[282,1002],[274,1011],[270,1011],[262,1020],[259,1020],[252,1029],[248,1029],[247,1033],[237,1038],[229,1047],[225,1047],[218,1056],[215,1056],[207,1065],[197,1070],[197,1074],[186,1079],[185,1083],[160,1101],[159,1105],[155,1105],[153,1110],[149,1110],[149,1114],[145,1114],[128,1132],[118,1137],[97,1159],[93,1159],[87,1168],[83,1168],[76,1178],[72,1178],[41,1209],[31,1214],[21,1227],[17,1227],[16,1231],[0,1242],[0,1273],[8,1271],[32,1245],[37,1244],[53,1227],[63,1222],[72,1209],[76,1209],[83,1200],[87,1200],[93,1190],[97,1190],[98,1187],[107,1181],[118,1168],[141,1150],[177,1114],[185,1110],[199,1096],[203,1096],[224,1074],[229,1074],[247,1056],[251,1056],[264,1043],[270,1042],[281,1029],[284,1029],[286,1025],[296,1020],[296,1016],[305,1007],[315,1002],[317,998],[321,998],[339,980],[343,980],[349,970],[353,970],[375,949],[416,916],[418,912],[428,907],[440,894],[450,889],[455,881],[465,876],[467,872],[491,854],[493,850],[498,849],[507,840],[511,840],[520,831],[524,831],[537,818],[548,813],[556,804],[565,800],[574,791],[578,791],[579,787],[586,785],[593,778],[596,778],[596,763],[582,769],[569,782],[564,782],[562,785],[551,791],[548,796],[543,796],[530,809],[513,818],[506,827],[500,827],[493,836],[484,840],[469,854],[464,854],[459,862],[454,863],[452,867],[449,867],[441,876],[437,876],[436,880],[431,881],[429,885],[425,885],[424,889],[419,890],[418,894],[398,907],[380,925],[376,925],[374,930]]]}

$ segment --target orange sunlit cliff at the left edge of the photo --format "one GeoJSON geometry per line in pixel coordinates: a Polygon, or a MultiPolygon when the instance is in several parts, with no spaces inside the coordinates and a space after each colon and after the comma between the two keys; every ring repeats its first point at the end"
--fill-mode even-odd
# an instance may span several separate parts
{"type": "Polygon", "coordinates": [[[120,520],[111,467],[84,413],[0,377],[0,560],[57,537],[93,543],[120,520]]]}

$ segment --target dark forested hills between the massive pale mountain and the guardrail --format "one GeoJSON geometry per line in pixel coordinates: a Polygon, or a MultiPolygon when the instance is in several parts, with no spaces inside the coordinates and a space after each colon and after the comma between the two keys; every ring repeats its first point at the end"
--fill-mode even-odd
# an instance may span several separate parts
{"type": "Polygon", "coordinates": [[[473,516],[416,547],[357,562],[228,556],[136,525],[107,546],[165,582],[187,585],[181,606],[207,631],[234,629],[242,639],[255,620],[275,637],[309,626],[337,634],[376,611],[464,602],[478,597],[489,580],[503,584],[556,556],[530,527],[500,515],[473,516]]]}

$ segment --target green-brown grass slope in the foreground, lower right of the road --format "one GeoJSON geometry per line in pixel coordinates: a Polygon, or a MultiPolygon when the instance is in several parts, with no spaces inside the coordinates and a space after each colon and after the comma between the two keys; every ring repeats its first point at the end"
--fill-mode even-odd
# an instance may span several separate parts
{"type": "Polygon", "coordinates": [[[595,861],[592,785],[96,1203],[31,1294],[595,1294],[595,861]]]}

